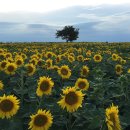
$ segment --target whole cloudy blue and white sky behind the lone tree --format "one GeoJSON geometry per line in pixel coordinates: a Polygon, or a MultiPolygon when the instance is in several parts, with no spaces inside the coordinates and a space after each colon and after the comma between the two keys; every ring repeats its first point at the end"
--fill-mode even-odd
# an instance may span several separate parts
{"type": "Polygon", "coordinates": [[[130,0],[0,0],[0,41],[61,41],[74,25],[79,41],[130,41],[130,0]]]}

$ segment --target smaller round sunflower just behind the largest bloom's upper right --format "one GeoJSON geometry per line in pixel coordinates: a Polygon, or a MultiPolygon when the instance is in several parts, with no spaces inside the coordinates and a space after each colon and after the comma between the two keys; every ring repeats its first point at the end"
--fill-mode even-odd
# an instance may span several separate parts
{"type": "Polygon", "coordinates": [[[78,78],[75,83],[75,87],[81,90],[88,90],[89,82],[87,79],[78,78]]]}

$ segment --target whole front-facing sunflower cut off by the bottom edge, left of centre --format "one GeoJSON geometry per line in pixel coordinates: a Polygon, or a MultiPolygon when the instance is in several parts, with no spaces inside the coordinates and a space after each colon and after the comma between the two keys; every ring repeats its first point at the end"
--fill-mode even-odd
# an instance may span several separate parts
{"type": "Polygon", "coordinates": [[[50,111],[39,109],[35,115],[30,116],[29,129],[48,130],[53,123],[53,116],[50,111]]]}

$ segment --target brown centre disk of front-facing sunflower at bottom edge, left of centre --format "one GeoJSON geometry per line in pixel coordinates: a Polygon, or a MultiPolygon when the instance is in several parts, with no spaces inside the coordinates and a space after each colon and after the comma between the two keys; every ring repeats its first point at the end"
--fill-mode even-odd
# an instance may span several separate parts
{"type": "Polygon", "coordinates": [[[34,119],[34,124],[36,126],[41,127],[41,126],[44,126],[47,123],[47,121],[48,121],[48,118],[45,115],[38,115],[34,119]]]}

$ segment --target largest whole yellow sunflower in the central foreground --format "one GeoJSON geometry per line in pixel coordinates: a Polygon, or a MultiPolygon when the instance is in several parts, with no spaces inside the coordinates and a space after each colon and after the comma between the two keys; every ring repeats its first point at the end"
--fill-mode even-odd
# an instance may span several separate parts
{"type": "Polygon", "coordinates": [[[67,109],[68,112],[74,112],[79,107],[82,107],[84,94],[80,90],[76,90],[75,87],[67,87],[63,89],[62,99],[58,102],[61,108],[67,109]]]}

